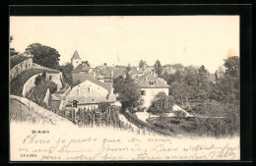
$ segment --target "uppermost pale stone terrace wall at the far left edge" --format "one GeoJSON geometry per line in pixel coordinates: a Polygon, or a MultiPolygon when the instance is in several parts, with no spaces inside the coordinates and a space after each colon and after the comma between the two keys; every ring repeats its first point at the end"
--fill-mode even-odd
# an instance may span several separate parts
{"type": "Polygon", "coordinates": [[[18,75],[20,75],[23,71],[32,68],[32,58],[29,58],[19,64],[17,64],[11,71],[10,71],[10,79],[13,80],[18,75]]]}

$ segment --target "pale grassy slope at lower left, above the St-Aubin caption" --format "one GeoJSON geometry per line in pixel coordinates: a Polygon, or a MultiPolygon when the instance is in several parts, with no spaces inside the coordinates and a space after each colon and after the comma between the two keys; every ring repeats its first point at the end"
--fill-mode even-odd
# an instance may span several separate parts
{"type": "Polygon", "coordinates": [[[32,124],[51,124],[48,118],[34,112],[17,99],[10,99],[10,123],[27,122],[32,124]]]}

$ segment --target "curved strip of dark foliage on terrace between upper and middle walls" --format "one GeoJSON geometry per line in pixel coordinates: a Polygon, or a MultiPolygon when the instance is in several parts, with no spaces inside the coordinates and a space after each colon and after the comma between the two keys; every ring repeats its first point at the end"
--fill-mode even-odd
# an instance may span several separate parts
{"type": "Polygon", "coordinates": [[[57,73],[53,71],[48,71],[45,69],[28,69],[23,71],[19,76],[13,79],[10,83],[10,93],[14,95],[22,95],[24,84],[34,75],[47,72],[47,73],[57,73]]]}

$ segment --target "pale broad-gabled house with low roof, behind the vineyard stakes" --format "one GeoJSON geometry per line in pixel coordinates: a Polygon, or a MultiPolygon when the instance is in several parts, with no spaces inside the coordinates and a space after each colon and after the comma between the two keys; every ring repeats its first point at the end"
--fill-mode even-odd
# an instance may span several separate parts
{"type": "Polygon", "coordinates": [[[116,102],[112,83],[99,82],[90,74],[84,74],[82,83],[74,86],[66,96],[67,109],[72,107],[94,109],[102,102],[110,104],[116,102]]]}

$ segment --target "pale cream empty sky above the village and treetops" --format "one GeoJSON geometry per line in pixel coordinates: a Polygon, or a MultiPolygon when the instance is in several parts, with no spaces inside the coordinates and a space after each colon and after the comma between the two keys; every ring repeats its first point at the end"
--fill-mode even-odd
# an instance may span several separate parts
{"type": "Polygon", "coordinates": [[[92,67],[160,60],[214,73],[239,56],[239,16],[10,17],[10,35],[20,52],[32,43],[55,48],[61,65],[77,50],[92,67]]]}

